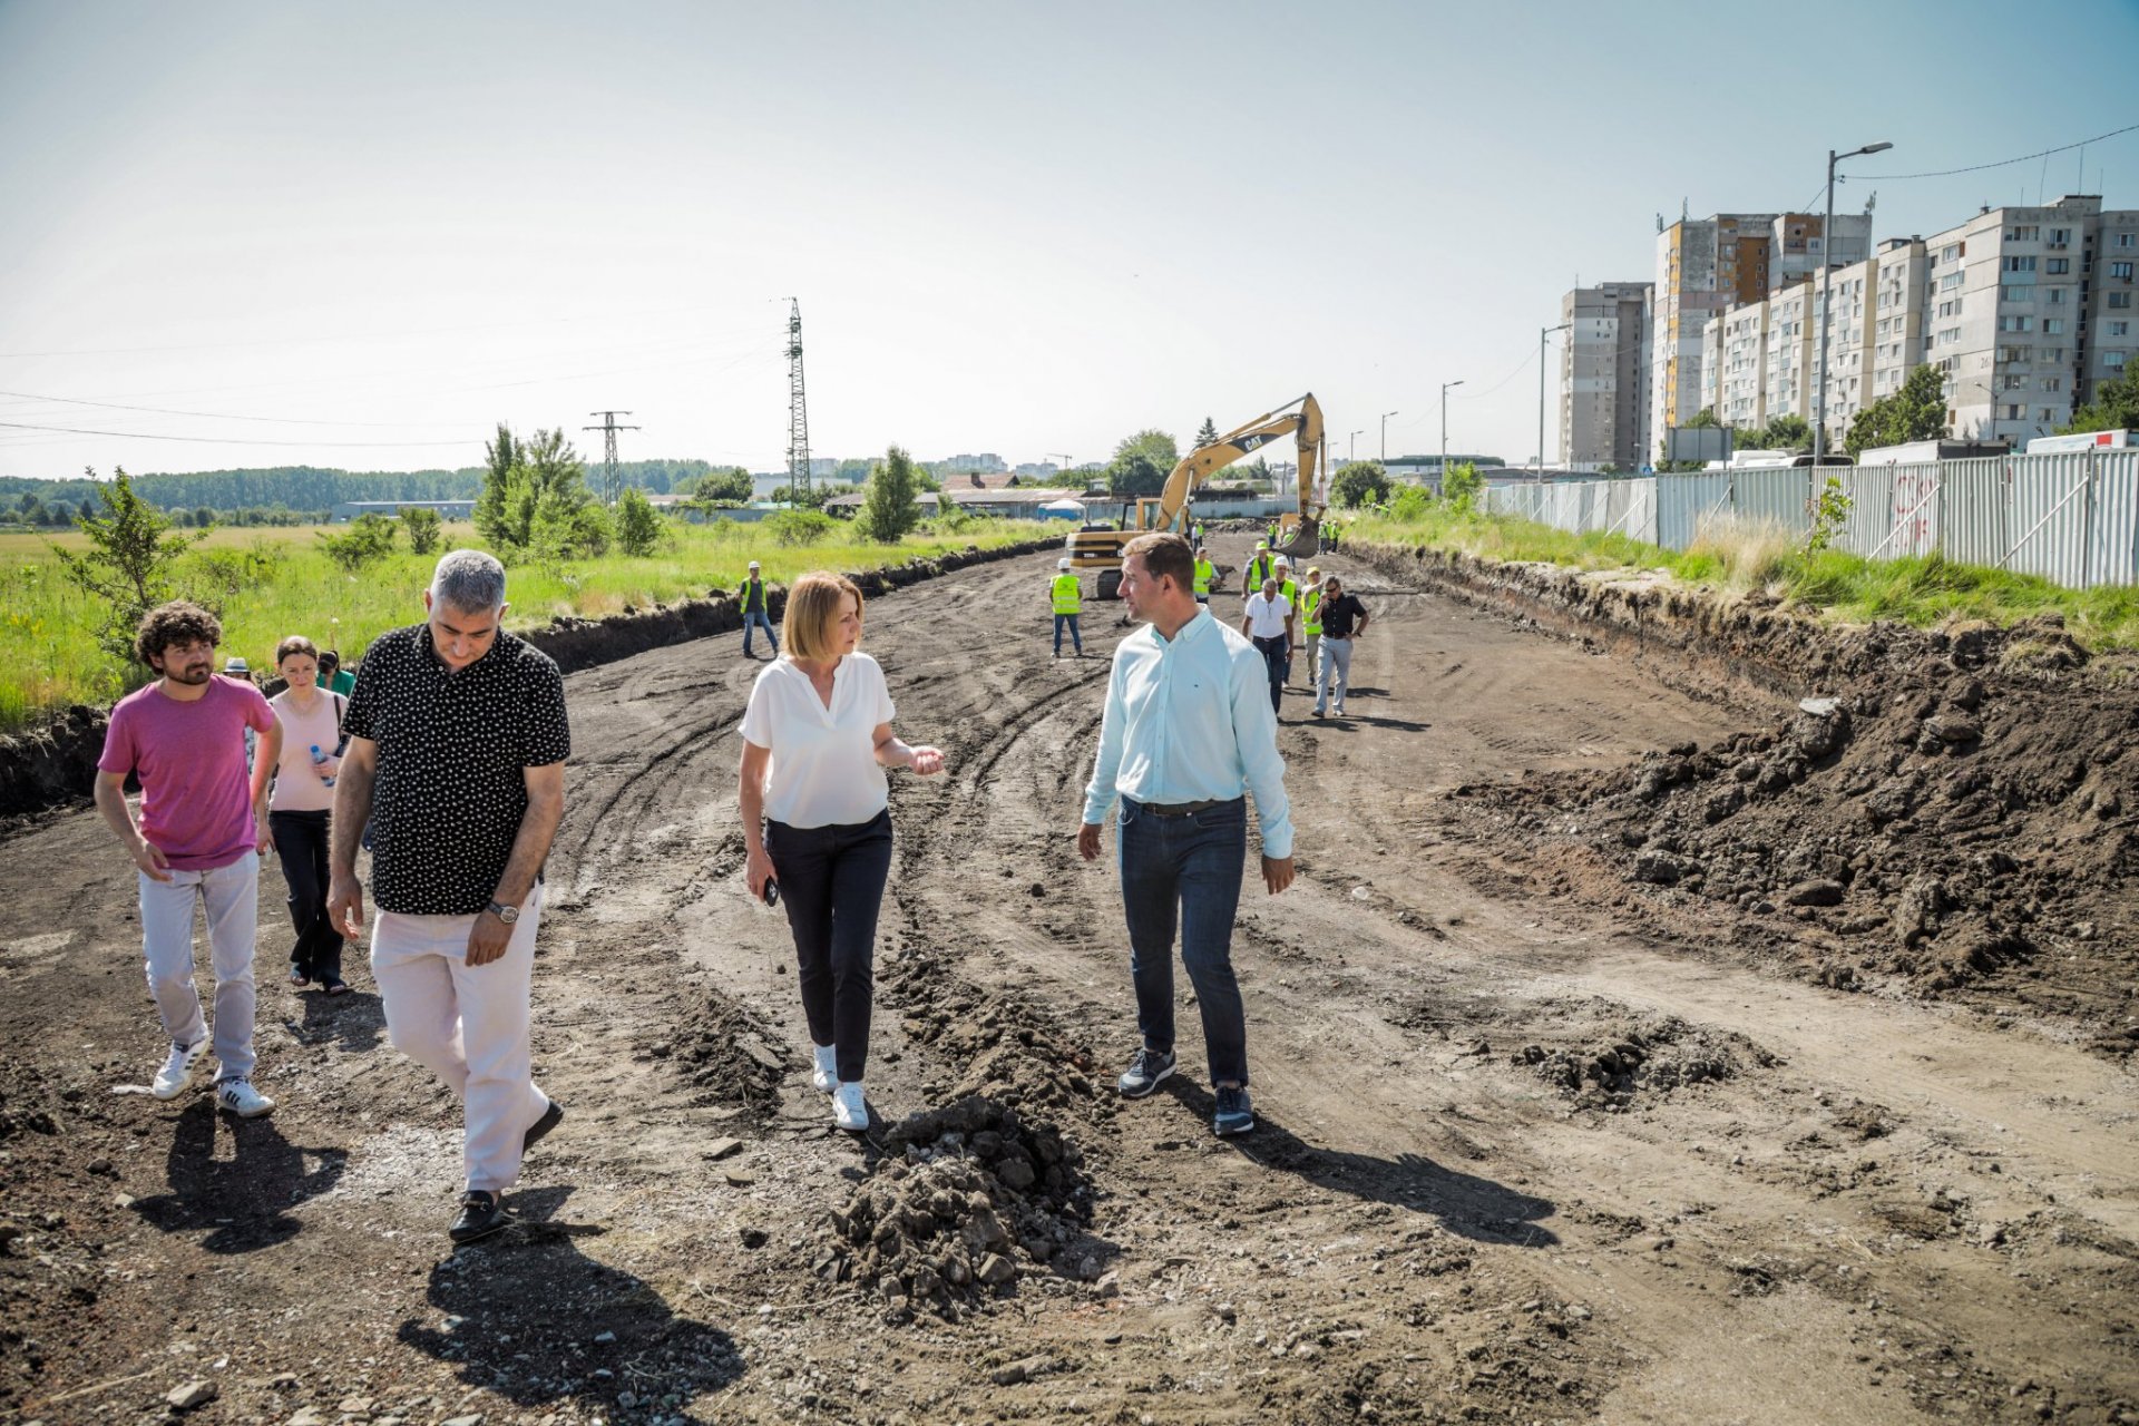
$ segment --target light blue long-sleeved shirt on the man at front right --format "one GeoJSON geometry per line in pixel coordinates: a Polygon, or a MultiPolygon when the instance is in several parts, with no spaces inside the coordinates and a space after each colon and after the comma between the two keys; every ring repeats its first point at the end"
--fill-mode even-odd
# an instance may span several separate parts
{"type": "Polygon", "coordinates": [[[1230,802],[1243,791],[1256,797],[1262,855],[1290,857],[1292,804],[1277,755],[1271,665],[1256,646],[1209,609],[1172,639],[1144,624],[1117,644],[1084,821],[1104,823],[1117,795],[1230,802]]]}

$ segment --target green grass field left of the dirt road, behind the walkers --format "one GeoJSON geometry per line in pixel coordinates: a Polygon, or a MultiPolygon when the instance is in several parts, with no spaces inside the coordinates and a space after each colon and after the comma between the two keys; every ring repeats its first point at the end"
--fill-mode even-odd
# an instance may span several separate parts
{"type": "MultiPolygon", "coordinates": [[[[1010,545],[1050,528],[1061,526],[990,520],[958,534],[933,534],[924,526],[898,545],[779,545],[751,524],[678,524],[670,549],[648,558],[612,554],[578,562],[563,575],[509,567],[505,622],[530,629],[567,614],[599,618],[734,592],[751,560],[764,564],[768,582],[787,584],[811,569],[875,569],[967,545],[1010,545]]],[[[68,549],[88,545],[77,532],[51,541],[68,549]]],[[[447,526],[445,543],[481,545],[473,526],[447,526]]],[[[321,648],[340,648],[344,658],[361,658],[387,629],[424,618],[434,562],[436,556],[402,547],[361,575],[344,575],[321,554],[310,526],[225,528],[180,562],[178,582],[220,611],[222,652],[242,654],[261,669],[274,661],[276,641],[293,633],[321,648]]],[[[145,669],[122,665],[96,646],[96,609],[66,582],[45,537],[0,534],[0,731],[21,729],[51,708],[111,703],[145,682],[145,669]]]]}

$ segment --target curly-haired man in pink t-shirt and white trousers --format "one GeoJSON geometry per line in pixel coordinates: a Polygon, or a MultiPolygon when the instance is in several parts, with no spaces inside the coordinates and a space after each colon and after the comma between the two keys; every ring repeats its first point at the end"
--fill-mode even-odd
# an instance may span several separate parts
{"type": "Polygon", "coordinates": [[[171,1054],[150,1090],[178,1099],[207,1052],[193,986],[193,911],[207,913],[216,971],[216,1105],[252,1118],[274,1099],[252,1088],[252,934],[261,853],[267,851],[267,778],[282,755],[282,725],[259,688],[218,678],[214,614],[173,601],[150,609],[135,654],[160,678],[120,699],[96,759],[96,810],[141,868],[141,949],[171,1054]],[[246,729],[259,740],[246,772],[246,729]],[[126,806],[126,776],[141,778],[141,821],[126,806]]]}

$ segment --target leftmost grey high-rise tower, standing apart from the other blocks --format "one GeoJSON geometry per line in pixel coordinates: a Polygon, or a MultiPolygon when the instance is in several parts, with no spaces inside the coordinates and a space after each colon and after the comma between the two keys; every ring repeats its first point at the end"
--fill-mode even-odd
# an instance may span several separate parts
{"type": "Polygon", "coordinates": [[[1576,286],[1559,299],[1568,340],[1559,355],[1559,462],[1638,470],[1649,443],[1647,282],[1576,286]]]}

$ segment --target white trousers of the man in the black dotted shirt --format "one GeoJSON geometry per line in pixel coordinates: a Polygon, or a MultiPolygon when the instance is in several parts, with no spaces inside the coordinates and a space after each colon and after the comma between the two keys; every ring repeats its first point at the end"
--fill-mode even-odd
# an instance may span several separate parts
{"type": "Polygon", "coordinates": [[[376,913],[372,979],[387,1039],[445,1080],[466,1110],[466,1187],[503,1193],[520,1178],[520,1144],[548,1114],[535,1088],[528,996],[541,883],[520,909],[505,956],[468,968],[473,915],[376,913]]]}

